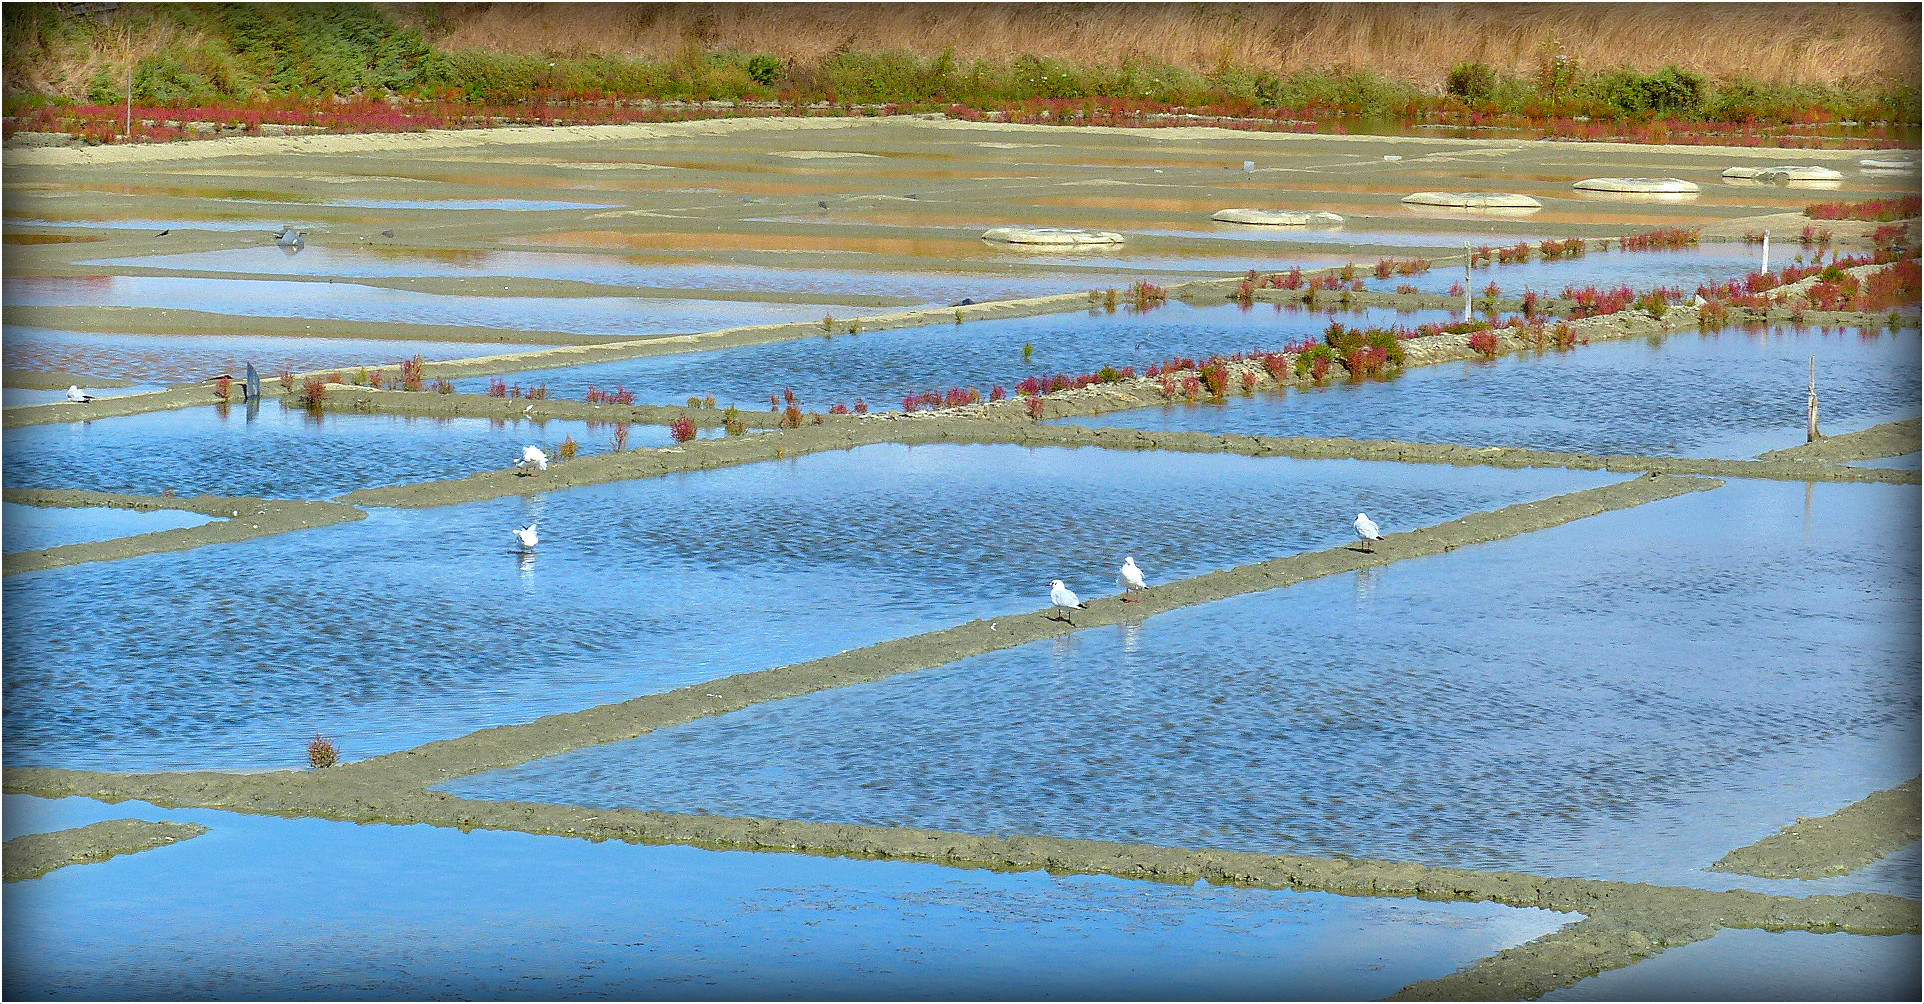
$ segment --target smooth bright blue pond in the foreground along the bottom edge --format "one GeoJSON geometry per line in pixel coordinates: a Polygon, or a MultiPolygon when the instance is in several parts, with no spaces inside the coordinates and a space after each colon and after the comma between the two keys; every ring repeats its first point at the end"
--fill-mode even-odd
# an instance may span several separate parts
{"type": "Polygon", "coordinates": [[[6,796],[10,837],[19,816],[210,831],[8,883],[12,1000],[1372,1000],[1574,919],[6,796]]]}

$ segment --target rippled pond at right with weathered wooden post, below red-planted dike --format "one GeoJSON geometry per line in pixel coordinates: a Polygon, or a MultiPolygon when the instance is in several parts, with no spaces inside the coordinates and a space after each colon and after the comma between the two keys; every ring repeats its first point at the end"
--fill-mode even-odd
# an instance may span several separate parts
{"type": "Polygon", "coordinates": [[[1356,437],[1599,454],[1747,458],[1805,440],[1816,356],[1822,429],[1918,415],[1918,333],[1772,329],[1680,333],[1418,365],[1226,404],[1068,419],[1129,429],[1356,437]]]}

